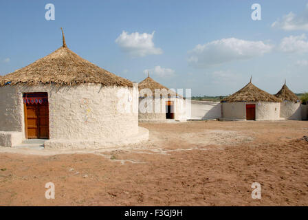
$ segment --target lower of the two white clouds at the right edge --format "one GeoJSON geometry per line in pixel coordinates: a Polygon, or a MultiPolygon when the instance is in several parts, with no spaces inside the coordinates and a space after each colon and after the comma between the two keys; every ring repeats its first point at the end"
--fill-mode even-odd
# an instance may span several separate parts
{"type": "Polygon", "coordinates": [[[308,52],[308,41],[306,41],[307,36],[305,34],[299,36],[288,36],[281,40],[278,50],[287,53],[308,52]]]}

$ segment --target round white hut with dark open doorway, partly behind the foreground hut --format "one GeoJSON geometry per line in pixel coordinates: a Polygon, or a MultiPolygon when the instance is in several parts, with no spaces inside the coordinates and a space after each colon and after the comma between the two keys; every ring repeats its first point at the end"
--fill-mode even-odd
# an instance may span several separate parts
{"type": "Polygon", "coordinates": [[[172,89],[157,83],[149,75],[139,87],[139,121],[186,121],[186,102],[172,89]]]}

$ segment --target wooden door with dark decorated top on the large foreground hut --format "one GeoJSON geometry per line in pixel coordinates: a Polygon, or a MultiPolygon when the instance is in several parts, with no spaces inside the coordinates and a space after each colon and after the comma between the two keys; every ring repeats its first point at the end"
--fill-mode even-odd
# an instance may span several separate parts
{"type": "Polygon", "coordinates": [[[23,94],[25,113],[25,138],[49,139],[48,94],[36,92],[23,94]]]}

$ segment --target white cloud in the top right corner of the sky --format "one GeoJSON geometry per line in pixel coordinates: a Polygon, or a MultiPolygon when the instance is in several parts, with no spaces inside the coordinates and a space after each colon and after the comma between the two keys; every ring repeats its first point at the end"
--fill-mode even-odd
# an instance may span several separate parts
{"type": "Polygon", "coordinates": [[[308,30],[308,4],[306,5],[305,11],[296,15],[293,12],[285,14],[281,19],[278,19],[272,23],[272,28],[279,28],[286,31],[292,30],[308,30]]]}

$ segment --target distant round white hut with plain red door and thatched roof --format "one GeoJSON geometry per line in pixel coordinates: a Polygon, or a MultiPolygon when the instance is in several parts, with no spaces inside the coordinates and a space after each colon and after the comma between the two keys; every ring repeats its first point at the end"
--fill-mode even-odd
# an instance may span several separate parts
{"type": "Polygon", "coordinates": [[[280,120],[281,99],[248,83],[221,100],[220,120],[280,120]]]}

